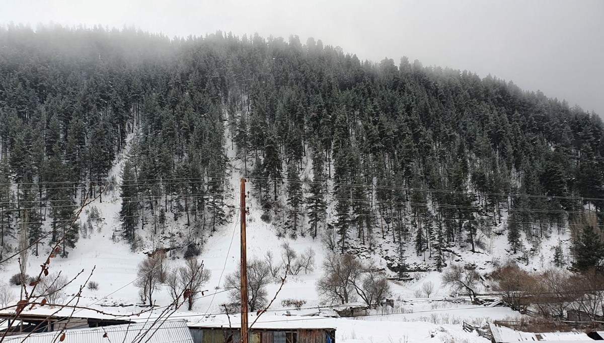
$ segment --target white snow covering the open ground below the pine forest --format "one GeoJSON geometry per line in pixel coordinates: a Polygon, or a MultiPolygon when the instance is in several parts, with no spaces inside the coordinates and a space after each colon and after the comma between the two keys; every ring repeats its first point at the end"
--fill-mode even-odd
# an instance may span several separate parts
{"type": "MultiPolygon", "coordinates": [[[[129,137],[129,140],[132,136],[129,137]]],[[[228,147],[231,147],[227,139],[228,147]]],[[[118,156],[111,175],[120,182],[120,170],[124,162],[126,152],[118,156]]],[[[229,150],[228,157],[235,160],[233,150],[229,150]]],[[[231,187],[238,189],[238,179],[241,175],[240,168],[236,165],[231,170],[231,187]]],[[[254,200],[251,200],[252,210],[247,220],[248,258],[263,258],[266,252],[271,251],[278,260],[281,245],[284,242],[291,243],[297,252],[303,252],[307,248],[315,251],[316,269],[309,274],[300,274],[288,277],[283,289],[278,293],[271,309],[260,319],[262,325],[296,325],[306,322],[305,325],[316,325],[322,327],[336,327],[336,339],[345,343],[405,343],[405,342],[487,342],[476,333],[464,332],[461,328],[463,321],[471,321],[480,324],[489,319],[504,319],[517,316],[518,313],[503,307],[474,306],[467,302],[451,301],[451,290],[443,287],[438,272],[416,272],[412,273],[413,280],[401,283],[391,283],[391,298],[395,300],[393,308],[386,308],[371,313],[370,316],[356,319],[346,318],[324,318],[323,316],[300,316],[303,314],[316,313],[321,310],[321,315],[329,314],[329,307],[324,306],[315,290],[315,280],[320,277],[320,266],[326,254],[326,249],[319,239],[310,237],[298,237],[296,240],[288,238],[278,239],[276,229],[260,219],[260,211],[253,210],[254,200]],[[422,298],[420,289],[422,284],[431,282],[434,284],[434,293],[430,298],[422,298]],[[301,310],[284,309],[281,301],[285,299],[304,300],[306,303],[301,310]],[[291,316],[284,316],[285,313],[291,316]],[[277,324],[278,323],[278,324],[277,324]]],[[[228,200],[238,205],[238,196],[228,200]]],[[[74,276],[80,270],[83,275],[67,288],[68,295],[76,293],[80,284],[94,269],[91,280],[98,283],[98,290],[85,288],[80,306],[92,307],[103,312],[127,315],[146,309],[140,307],[138,289],[134,286],[137,278],[137,264],[147,258],[142,252],[130,251],[129,245],[124,242],[116,243],[114,230],[119,228],[120,222],[118,212],[121,206],[119,194],[109,193],[103,197],[103,202],[95,200],[94,204],[103,218],[102,225],[95,227],[87,237],[81,237],[76,248],[69,253],[69,257],[54,258],[50,264],[50,271],[61,271],[68,277],[74,276]]],[[[217,227],[213,236],[208,237],[200,259],[204,261],[206,269],[211,271],[210,281],[205,287],[207,292],[199,298],[194,305],[193,311],[188,312],[183,306],[172,315],[173,318],[185,318],[192,325],[214,325],[228,323],[228,318],[223,314],[225,309],[222,304],[228,303],[229,293],[223,289],[226,275],[235,271],[239,263],[239,213],[231,213],[232,217],[226,225],[217,227]]],[[[88,213],[84,213],[81,222],[86,222],[88,213]]],[[[176,224],[178,225],[178,224],[176,224]]],[[[484,237],[485,251],[473,254],[468,251],[449,254],[447,263],[475,263],[478,269],[492,268],[493,261],[505,263],[512,258],[506,251],[507,241],[505,236],[493,234],[490,238],[484,237]]],[[[152,248],[152,244],[149,248],[152,248]]],[[[541,251],[544,255],[543,261],[532,258],[525,268],[541,269],[547,268],[551,261],[553,246],[557,244],[557,238],[546,240],[542,244],[541,251]],[[543,265],[541,265],[543,264],[543,265]]],[[[46,260],[48,248],[43,248],[39,257],[33,255],[28,258],[28,274],[36,274],[38,266],[46,260]]],[[[150,250],[147,249],[147,250],[150,250]]],[[[394,249],[384,245],[381,249],[394,249]]],[[[540,254],[538,254],[540,255],[540,254]]],[[[172,251],[169,254],[169,264],[177,266],[184,263],[182,251],[172,251]]],[[[409,263],[421,264],[422,256],[411,256],[409,263]]],[[[376,258],[376,262],[385,268],[385,261],[376,258]]],[[[7,281],[11,275],[18,272],[16,261],[2,266],[0,279],[7,281]]],[[[277,292],[280,284],[271,284],[268,287],[269,298],[277,292]]],[[[19,287],[12,286],[15,296],[19,294],[19,287]]],[[[160,309],[147,312],[137,320],[146,320],[158,316],[160,310],[171,303],[167,290],[159,290],[155,295],[156,304],[160,309]]],[[[16,298],[15,298],[16,301],[16,298]]],[[[34,308],[30,312],[53,313],[54,310],[47,308],[34,308]]],[[[76,310],[76,316],[95,316],[91,310],[76,310]]],[[[251,315],[250,322],[254,321],[255,314],[251,315]]],[[[237,322],[237,316],[231,315],[231,321],[237,322]]]]}

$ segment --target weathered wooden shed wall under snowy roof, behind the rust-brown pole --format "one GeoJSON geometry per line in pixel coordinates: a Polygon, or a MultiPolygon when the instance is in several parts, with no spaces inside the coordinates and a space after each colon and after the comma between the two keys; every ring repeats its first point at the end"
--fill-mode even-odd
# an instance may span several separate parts
{"type": "MultiPolygon", "coordinates": [[[[240,330],[229,327],[191,327],[194,343],[239,342],[240,330]]],[[[250,330],[249,343],[335,343],[336,329],[254,327],[250,330]]]]}

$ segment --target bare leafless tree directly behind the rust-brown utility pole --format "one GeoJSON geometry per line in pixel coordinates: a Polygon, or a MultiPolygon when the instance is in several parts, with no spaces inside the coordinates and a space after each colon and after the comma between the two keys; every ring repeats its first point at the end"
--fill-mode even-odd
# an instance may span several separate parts
{"type": "MultiPolygon", "coordinates": [[[[231,290],[231,298],[239,300],[241,268],[225,278],[225,289],[231,290]]],[[[258,259],[248,260],[248,306],[252,311],[259,310],[268,301],[266,286],[271,283],[270,268],[258,259]]]]}

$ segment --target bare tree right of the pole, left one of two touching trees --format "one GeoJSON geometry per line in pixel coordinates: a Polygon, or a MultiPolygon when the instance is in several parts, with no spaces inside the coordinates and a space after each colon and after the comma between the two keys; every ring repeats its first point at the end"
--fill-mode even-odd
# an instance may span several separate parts
{"type": "Polygon", "coordinates": [[[329,254],[323,261],[323,276],[316,281],[316,291],[328,303],[355,300],[354,282],[362,273],[362,263],[353,255],[329,254]]]}

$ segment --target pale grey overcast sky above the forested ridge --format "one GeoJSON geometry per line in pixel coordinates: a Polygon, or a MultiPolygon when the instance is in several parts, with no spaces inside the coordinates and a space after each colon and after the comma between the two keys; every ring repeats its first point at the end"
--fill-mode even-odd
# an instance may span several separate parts
{"type": "Polygon", "coordinates": [[[0,23],[290,34],[360,59],[450,66],[604,115],[604,0],[0,0],[0,23]]]}

